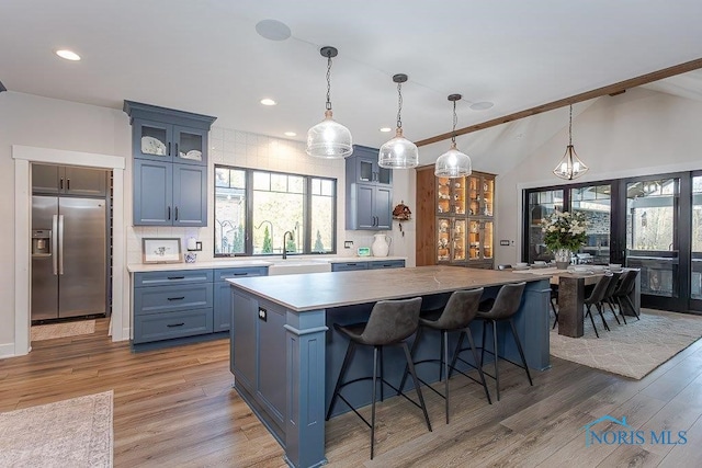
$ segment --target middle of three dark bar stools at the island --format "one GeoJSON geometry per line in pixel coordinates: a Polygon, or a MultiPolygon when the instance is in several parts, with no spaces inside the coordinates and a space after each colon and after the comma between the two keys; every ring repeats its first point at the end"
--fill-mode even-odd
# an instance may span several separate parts
{"type": "MultiPolygon", "coordinates": [[[[419,318],[419,329],[417,330],[417,336],[415,338],[415,342],[412,343],[412,349],[410,354],[412,358],[415,357],[415,352],[417,351],[417,345],[420,341],[422,332],[424,329],[428,330],[437,330],[441,332],[441,349],[439,351],[440,358],[439,359],[422,359],[422,361],[414,361],[415,366],[422,363],[440,363],[439,367],[439,380],[442,380],[442,374],[445,376],[444,380],[444,392],[441,393],[439,390],[428,385],[424,380],[418,377],[419,381],[427,385],[427,387],[439,395],[441,398],[445,400],[445,409],[446,409],[446,424],[449,424],[449,367],[451,370],[456,370],[464,376],[468,377],[471,380],[482,384],[483,389],[485,390],[485,396],[487,397],[488,403],[492,404],[490,400],[490,392],[487,389],[487,384],[485,383],[485,376],[483,375],[483,369],[478,366],[478,354],[473,343],[473,334],[471,333],[471,329],[468,326],[475,318],[478,311],[478,304],[480,303],[480,296],[483,295],[483,288],[478,289],[468,289],[468,290],[456,290],[451,294],[449,301],[446,303],[443,309],[435,310],[434,313],[428,313],[426,318],[419,318]],[[473,378],[472,376],[465,374],[464,372],[455,368],[456,356],[453,356],[453,361],[449,364],[449,332],[461,330],[461,338],[458,339],[458,346],[463,343],[463,338],[468,338],[468,343],[471,344],[471,351],[473,352],[473,358],[475,367],[480,375],[480,380],[473,378]]],[[[463,359],[461,359],[463,361],[463,359]]],[[[403,381],[399,385],[400,391],[405,388],[405,381],[407,380],[408,368],[405,367],[405,374],[403,375],[403,381]]]]}

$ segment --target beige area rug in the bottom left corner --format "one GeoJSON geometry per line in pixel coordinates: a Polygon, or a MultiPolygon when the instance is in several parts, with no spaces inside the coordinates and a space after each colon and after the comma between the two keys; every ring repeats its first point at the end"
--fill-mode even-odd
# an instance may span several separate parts
{"type": "Polygon", "coordinates": [[[112,467],[112,390],[0,413],[0,467],[112,467]]]}

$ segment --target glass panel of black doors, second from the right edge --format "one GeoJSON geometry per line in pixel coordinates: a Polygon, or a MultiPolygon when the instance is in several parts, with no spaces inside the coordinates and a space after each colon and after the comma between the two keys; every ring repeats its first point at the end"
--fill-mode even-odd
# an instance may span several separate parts
{"type": "Polygon", "coordinates": [[[626,266],[641,269],[644,295],[678,297],[679,179],[626,184],[626,266]]]}

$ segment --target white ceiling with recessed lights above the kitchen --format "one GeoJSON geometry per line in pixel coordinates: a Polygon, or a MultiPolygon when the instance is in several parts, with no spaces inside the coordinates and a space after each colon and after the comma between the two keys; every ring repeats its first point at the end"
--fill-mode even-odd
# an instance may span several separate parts
{"type": "MultiPolygon", "coordinates": [[[[702,57],[700,0],[3,0],[0,14],[10,91],[114,109],[127,99],[298,140],[324,116],[318,50],[336,46],[335,118],[373,147],[389,138],[378,128],[395,125],[395,73],[409,75],[403,124],[420,140],[451,130],[450,93],[464,96],[461,128],[702,57]],[[292,36],[259,36],[267,19],[292,36]],[[59,59],[58,48],[82,60],[59,59]],[[469,109],[482,101],[495,105],[469,109]]],[[[702,75],[649,88],[702,100],[702,75]]],[[[479,158],[506,133],[522,134],[522,149],[537,145],[565,124],[550,114],[491,129],[472,150],[479,158]]],[[[420,149],[421,163],[434,152],[420,149]]]]}

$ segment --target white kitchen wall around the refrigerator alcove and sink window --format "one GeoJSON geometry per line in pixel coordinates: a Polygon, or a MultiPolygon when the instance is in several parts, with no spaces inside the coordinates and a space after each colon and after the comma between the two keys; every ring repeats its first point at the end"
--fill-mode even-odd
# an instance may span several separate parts
{"type": "MultiPolygon", "coordinates": [[[[121,105],[121,103],[115,103],[121,105]]],[[[188,110],[185,110],[188,111],[188,110]]],[[[133,228],[132,219],[132,128],[128,116],[116,109],[77,104],[31,94],[15,92],[0,93],[0,357],[14,354],[15,343],[15,196],[14,160],[12,146],[27,146],[80,151],[95,155],[116,156],[125,159],[124,173],[124,226],[126,252],[124,263],[140,261],[140,238],[146,235],[197,237],[203,242],[199,260],[212,258],[213,228],[133,228]],[[202,255],[202,256],[201,256],[202,255]]],[[[355,248],[370,247],[373,232],[344,230],[344,163],[309,158],[304,145],[279,138],[247,134],[233,129],[213,127],[211,132],[210,168],[210,218],[213,219],[213,171],[214,163],[296,172],[338,179],[338,253],[355,254],[355,248]],[[353,240],[354,249],[344,250],[343,241],[353,240]]],[[[394,171],[395,203],[415,199],[415,171],[394,171]]],[[[410,203],[408,205],[411,206],[410,203]]],[[[407,256],[407,264],[415,264],[414,222],[403,225],[406,236],[401,237],[398,224],[394,222],[392,255],[407,256]]],[[[20,281],[26,282],[25,278],[20,281]]],[[[125,298],[128,303],[128,297],[125,298]]],[[[128,336],[128,320],[123,336],[128,336]]],[[[22,341],[22,340],[20,340],[22,341]]]]}

